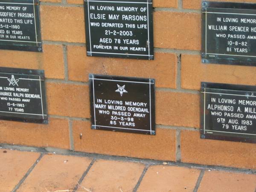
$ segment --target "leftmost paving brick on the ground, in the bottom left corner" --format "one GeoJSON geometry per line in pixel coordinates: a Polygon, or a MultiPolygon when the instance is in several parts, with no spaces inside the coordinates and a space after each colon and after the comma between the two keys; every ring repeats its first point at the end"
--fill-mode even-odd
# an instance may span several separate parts
{"type": "Polygon", "coordinates": [[[0,149],[0,192],[11,192],[39,156],[39,153],[0,149]]]}

